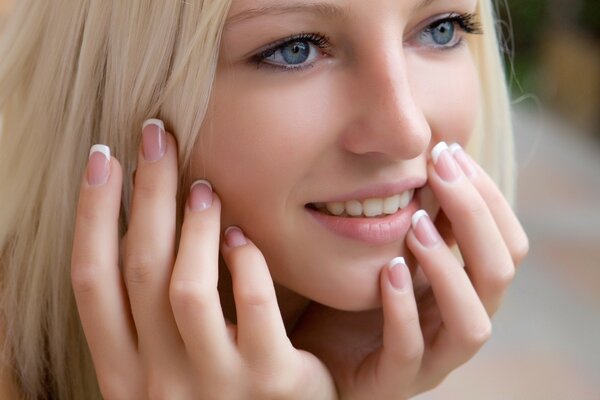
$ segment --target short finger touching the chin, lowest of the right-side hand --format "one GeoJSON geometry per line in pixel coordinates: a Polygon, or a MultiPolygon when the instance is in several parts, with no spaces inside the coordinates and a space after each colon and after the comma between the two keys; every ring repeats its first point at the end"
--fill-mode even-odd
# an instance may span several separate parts
{"type": "Polygon", "coordinates": [[[404,258],[393,259],[382,270],[380,285],[384,323],[383,348],[377,370],[382,374],[380,382],[387,384],[392,396],[417,375],[424,342],[412,278],[404,258]]]}

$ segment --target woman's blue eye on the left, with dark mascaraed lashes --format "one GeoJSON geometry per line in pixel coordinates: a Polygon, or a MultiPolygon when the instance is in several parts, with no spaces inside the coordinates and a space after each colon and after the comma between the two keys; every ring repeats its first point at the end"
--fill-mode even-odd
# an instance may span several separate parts
{"type": "Polygon", "coordinates": [[[329,39],[321,34],[299,34],[283,39],[252,57],[257,67],[268,66],[280,70],[301,70],[312,67],[322,49],[329,47],[329,39]]]}

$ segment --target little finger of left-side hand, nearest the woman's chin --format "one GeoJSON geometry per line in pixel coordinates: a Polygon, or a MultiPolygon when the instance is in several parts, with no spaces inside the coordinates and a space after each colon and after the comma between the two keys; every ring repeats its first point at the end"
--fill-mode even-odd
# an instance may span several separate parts
{"type": "Polygon", "coordinates": [[[250,362],[273,365],[282,356],[280,346],[292,346],[265,259],[237,227],[225,231],[223,257],[233,282],[239,349],[250,362]]]}

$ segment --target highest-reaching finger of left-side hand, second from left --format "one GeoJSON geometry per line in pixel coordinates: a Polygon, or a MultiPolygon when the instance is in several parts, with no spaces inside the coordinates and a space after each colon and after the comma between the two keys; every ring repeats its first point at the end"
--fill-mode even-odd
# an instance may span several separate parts
{"type": "Polygon", "coordinates": [[[177,152],[158,120],[144,123],[124,257],[125,283],[142,357],[164,365],[181,345],[171,305],[177,152]]]}

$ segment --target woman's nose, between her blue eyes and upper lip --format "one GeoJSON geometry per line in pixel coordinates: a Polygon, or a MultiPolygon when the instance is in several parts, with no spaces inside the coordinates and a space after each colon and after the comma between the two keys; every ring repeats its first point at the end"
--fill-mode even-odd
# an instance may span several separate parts
{"type": "Polygon", "coordinates": [[[393,51],[377,47],[354,66],[356,113],[342,142],[358,155],[410,160],[425,152],[431,129],[411,92],[402,45],[396,42],[393,51]]]}

